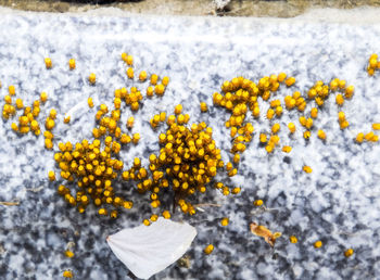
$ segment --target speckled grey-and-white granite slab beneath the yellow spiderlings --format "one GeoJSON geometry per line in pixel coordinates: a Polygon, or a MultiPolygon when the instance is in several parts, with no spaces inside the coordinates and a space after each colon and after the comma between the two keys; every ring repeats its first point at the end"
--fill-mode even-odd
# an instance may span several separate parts
{"type": "MultiPolygon", "coordinates": [[[[47,91],[49,101],[41,106],[39,119],[55,107],[59,122],[53,131],[65,141],[91,139],[94,109],[77,114],[69,126],[62,122],[75,104],[93,97],[96,105],[111,105],[114,89],[147,87],[127,79],[122,52],[135,56],[137,72],[170,77],[165,96],[145,100],[135,114],[132,131],[141,132],[142,139],[122,151],[126,167],[135,156],[147,164],[147,155],[159,150],[159,132],[150,128],[149,118],[159,111],[173,112],[178,103],[191,122],[205,120],[214,128],[227,161],[231,143],[224,123],[228,115],[212,106],[213,92],[226,79],[242,75],[257,80],[284,71],[297,81],[291,89],[281,88],[277,94],[281,99],[295,90],[305,92],[319,79],[346,79],[356,87],[353,100],[343,107],[350,128],[339,129],[338,109],[330,98],[315,122],[311,141],[305,142],[301,129],[292,139],[281,129],[281,144],[293,147],[289,155],[278,149],[268,156],[258,145],[258,132],[269,131],[270,122],[264,116],[248,118],[255,136],[242,155],[239,173],[230,179],[220,175],[224,181],[241,187],[241,194],[225,198],[210,190],[198,202],[221,207],[203,207],[205,212],[192,217],[176,212],[175,220],[186,220],[199,232],[187,253],[190,268],[174,264],[154,278],[379,278],[380,147],[357,145],[353,138],[380,120],[380,77],[368,77],[365,71],[370,53],[380,51],[380,25],[11,13],[0,17],[0,26],[1,96],[13,84],[16,97],[30,104],[47,91]],[[52,59],[51,71],[45,68],[46,56],[52,59]],[[67,67],[71,58],[77,61],[73,72],[67,67]],[[98,77],[93,87],[87,82],[91,72],[98,77]],[[207,102],[210,114],[201,114],[201,101],[207,102]],[[326,143],[316,138],[317,128],[325,129],[326,143]],[[304,164],[313,167],[312,174],[302,171],[304,164]],[[256,199],[267,209],[254,207],[256,199]],[[228,227],[219,225],[224,216],[230,218],[228,227]],[[252,221],[282,232],[274,250],[250,232],[252,221]],[[289,242],[292,234],[299,238],[297,244],[289,242]],[[316,250],[313,243],[318,239],[324,246],[316,250]],[[215,251],[205,256],[202,250],[208,243],[215,251]],[[355,250],[351,258],[343,256],[347,247],[355,250]]],[[[265,112],[267,104],[261,106],[265,112]]],[[[124,123],[132,113],[126,107],[123,112],[124,123]]],[[[281,127],[297,123],[297,116],[286,112],[279,123],[281,127]]],[[[43,137],[18,137],[10,126],[11,122],[0,122],[0,201],[18,200],[20,205],[0,205],[0,278],[59,279],[64,269],[72,269],[76,279],[128,279],[128,269],[113,255],[105,238],[147,218],[149,198],[135,193],[130,184],[118,184],[135,202],[131,211],[123,212],[117,220],[98,217],[94,207],[79,215],[55,194],[56,183],[47,179],[54,162],[53,153],[43,149],[43,137]],[[68,242],[75,243],[74,258],[63,255],[68,242]]]]}

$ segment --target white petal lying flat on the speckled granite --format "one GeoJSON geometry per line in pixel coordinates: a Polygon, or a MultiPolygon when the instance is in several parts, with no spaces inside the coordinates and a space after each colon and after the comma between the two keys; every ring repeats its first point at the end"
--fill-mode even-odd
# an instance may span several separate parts
{"type": "Polygon", "coordinates": [[[135,276],[148,279],[180,258],[195,236],[197,229],[189,224],[160,217],[149,227],[123,229],[106,241],[135,276]]]}

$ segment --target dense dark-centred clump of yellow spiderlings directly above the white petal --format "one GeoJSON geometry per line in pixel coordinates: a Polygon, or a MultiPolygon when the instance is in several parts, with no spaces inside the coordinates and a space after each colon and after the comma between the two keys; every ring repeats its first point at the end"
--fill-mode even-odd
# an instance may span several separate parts
{"type": "MultiPolygon", "coordinates": [[[[180,114],[181,110],[176,106],[177,116],[168,116],[168,128],[165,133],[159,136],[161,144],[160,153],[149,157],[149,170],[151,175],[137,183],[140,193],[149,191],[151,206],[161,205],[160,192],[166,188],[174,191],[176,204],[183,213],[193,215],[195,208],[187,201],[187,198],[195,192],[204,193],[206,187],[215,177],[217,169],[224,167],[220,150],[213,140],[213,130],[205,123],[187,126],[189,116],[180,114]]],[[[130,179],[130,171],[124,179],[130,179]]],[[[240,188],[228,188],[221,182],[216,182],[215,188],[223,194],[237,194],[240,188]]],[[[165,217],[165,215],[164,215],[165,217]]]]}

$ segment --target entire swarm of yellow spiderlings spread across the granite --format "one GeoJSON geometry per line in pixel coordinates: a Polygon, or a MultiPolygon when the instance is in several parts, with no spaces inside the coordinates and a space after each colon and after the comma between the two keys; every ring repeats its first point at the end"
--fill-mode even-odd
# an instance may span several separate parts
{"type": "MultiPolygon", "coordinates": [[[[122,60],[126,63],[126,74],[129,79],[135,78],[134,58],[130,54],[123,53],[122,60]]],[[[371,55],[369,67],[375,69],[379,66],[377,55],[371,55]]],[[[45,60],[46,67],[51,68],[52,62],[49,58],[45,60]]],[[[75,69],[75,60],[68,61],[69,69],[75,69]]],[[[91,73],[88,77],[91,85],[96,85],[97,76],[91,73]]],[[[150,86],[147,88],[147,97],[162,96],[169,82],[168,77],[160,77],[156,74],[150,76],[145,71],[141,71],[138,75],[140,82],[149,81],[150,86]]],[[[226,122],[226,127],[230,128],[230,137],[232,138],[230,162],[225,164],[221,161],[220,151],[216,148],[215,141],[212,138],[212,128],[207,127],[205,123],[187,125],[190,116],[182,114],[182,105],[175,106],[173,115],[166,116],[165,112],[154,115],[150,119],[152,128],[156,128],[161,123],[168,125],[165,133],[161,133],[159,142],[162,145],[159,154],[150,155],[150,165],[144,168],[141,166],[140,158],[136,157],[134,165],[128,170],[123,170],[124,163],[117,160],[123,144],[134,142],[137,144],[140,140],[139,133],[129,136],[122,132],[121,116],[123,110],[123,101],[127,106],[136,112],[140,109],[143,99],[142,92],[137,87],[119,88],[114,91],[113,110],[109,110],[107,105],[101,104],[96,114],[97,126],[92,130],[94,140],[89,143],[88,140],[75,143],[71,142],[60,143],[59,152],[54,154],[54,160],[61,169],[61,177],[67,181],[76,181],[78,191],[71,193],[71,190],[61,184],[59,193],[65,200],[78,207],[79,212],[84,212],[90,201],[99,208],[100,215],[110,214],[111,217],[117,217],[116,209],[109,213],[111,206],[114,208],[126,207],[130,208],[132,203],[125,201],[115,194],[113,182],[116,178],[122,177],[123,180],[135,180],[137,182],[137,190],[140,193],[150,192],[151,205],[153,208],[161,205],[159,193],[164,188],[170,188],[176,198],[176,204],[180,206],[183,213],[190,215],[195,213],[193,205],[187,201],[188,196],[195,192],[205,192],[206,186],[213,180],[218,168],[225,168],[228,176],[235,176],[238,171],[237,166],[240,162],[241,154],[245,151],[246,144],[252,141],[254,127],[250,123],[245,123],[248,111],[250,110],[253,117],[258,118],[261,115],[259,102],[261,98],[269,103],[269,109],[266,111],[266,117],[269,120],[278,119],[283,114],[283,107],[287,110],[297,110],[304,112],[308,102],[314,101],[315,107],[311,109],[309,114],[300,116],[299,120],[305,131],[303,136],[305,139],[311,138],[311,131],[314,129],[315,119],[318,117],[318,107],[321,107],[325,101],[329,98],[331,92],[337,92],[335,103],[339,106],[344,104],[346,99],[351,99],[354,93],[354,87],[346,87],[345,80],[333,79],[329,85],[322,81],[317,81],[303,97],[300,91],[294,91],[292,94],[284,97],[283,104],[280,99],[273,99],[278,91],[280,85],[291,87],[295,84],[294,77],[288,77],[287,74],[270,75],[263,77],[257,84],[243,77],[236,77],[230,81],[225,81],[221,86],[221,93],[215,92],[213,94],[213,102],[216,105],[228,110],[231,115],[226,122]],[[150,174],[149,174],[150,173],[150,174]],[[105,205],[104,207],[102,205],[105,205]],[[110,207],[107,206],[110,205],[110,207]]],[[[40,126],[35,119],[40,112],[40,102],[45,103],[48,99],[46,92],[42,92],[40,100],[36,100],[33,107],[24,107],[23,100],[16,99],[12,103],[12,97],[15,94],[15,87],[9,87],[9,94],[4,97],[5,104],[3,106],[2,116],[8,119],[15,115],[16,110],[24,110],[24,114],[18,118],[18,125],[12,124],[12,129],[22,133],[33,131],[35,135],[40,135],[40,126]]],[[[88,98],[88,105],[93,107],[93,101],[88,98]]],[[[200,103],[201,112],[207,112],[207,104],[200,103]]],[[[56,111],[51,110],[48,118],[45,122],[46,131],[45,145],[47,149],[53,149],[53,133],[52,129],[55,126],[56,111]]],[[[344,113],[341,111],[338,114],[338,119],[341,129],[349,126],[344,113]]],[[[65,124],[69,123],[69,116],[65,117],[65,124]]],[[[135,118],[130,116],[127,120],[126,127],[131,129],[134,127],[135,118]]],[[[295,132],[295,125],[288,124],[290,133],[295,132]]],[[[379,124],[372,125],[373,130],[380,129],[379,124]]],[[[259,141],[265,147],[267,153],[271,153],[280,143],[278,136],[281,130],[279,123],[271,124],[270,133],[261,133],[259,141]]],[[[317,132],[319,139],[325,140],[326,133],[319,129],[317,132]]],[[[358,133],[357,142],[364,140],[376,142],[378,136],[372,131],[364,135],[358,133]]],[[[292,148],[283,145],[282,151],[290,153],[292,148]]],[[[312,173],[309,166],[304,166],[305,173],[312,173]]],[[[49,173],[49,179],[55,180],[55,173],[49,173]]],[[[215,182],[214,187],[219,189],[224,195],[230,193],[237,194],[240,188],[229,188],[221,182],[215,182]]],[[[258,200],[255,205],[259,206],[263,201],[258,200]]],[[[162,215],[165,218],[170,218],[170,213],[164,211],[162,215]]],[[[145,225],[150,225],[157,219],[154,214],[150,219],[144,220],[145,225]]],[[[228,224],[228,220],[221,222],[228,224]]]]}

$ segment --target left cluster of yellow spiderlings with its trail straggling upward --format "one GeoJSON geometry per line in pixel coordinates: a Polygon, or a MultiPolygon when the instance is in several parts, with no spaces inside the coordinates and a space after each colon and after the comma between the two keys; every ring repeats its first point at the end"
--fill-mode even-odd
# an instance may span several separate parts
{"type": "MultiPolygon", "coordinates": [[[[122,59],[127,65],[134,65],[134,58],[131,55],[123,53],[122,59]]],[[[74,69],[75,61],[69,60],[68,66],[69,69],[74,69]]],[[[127,75],[129,78],[134,78],[132,68],[128,68],[127,75]]],[[[147,76],[148,74],[145,72],[141,72],[139,80],[144,81],[147,76]]],[[[91,73],[88,79],[91,85],[94,85],[97,82],[96,74],[91,73]]],[[[162,96],[165,91],[165,87],[169,82],[169,78],[163,77],[161,84],[159,84],[159,76],[152,74],[150,82],[155,86],[152,92],[154,91],[157,96],[162,96]]],[[[147,96],[149,96],[148,91],[149,90],[147,90],[147,96]]],[[[64,196],[68,204],[76,206],[80,213],[85,212],[86,207],[91,202],[99,207],[99,215],[110,215],[112,218],[117,217],[117,208],[132,207],[131,201],[126,201],[122,196],[116,195],[113,183],[118,177],[121,177],[123,180],[138,181],[140,182],[138,186],[141,186],[141,183],[148,178],[148,169],[141,166],[140,158],[136,157],[134,166],[128,170],[123,170],[124,163],[117,158],[124,144],[130,142],[137,144],[140,140],[139,133],[129,136],[128,133],[122,132],[122,103],[125,101],[132,111],[137,111],[140,107],[139,102],[141,100],[142,94],[137,87],[131,87],[129,91],[127,88],[116,89],[114,91],[113,110],[109,110],[105,104],[100,104],[99,110],[96,113],[97,126],[92,129],[92,136],[94,138],[92,142],[85,139],[74,145],[71,142],[59,143],[60,151],[54,154],[54,160],[61,170],[60,175],[68,182],[75,181],[78,189],[73,192],[68,187],[60,184],[58,187],[58,192],[64,196]]],[[[88,98],[87,102],[89,107],[94,106],[92,98],[88,98]]],[[[45,124],[47,130],[43,136],[48,149],[53,148],[52,140],[54,136],[51,132],[51,129],[55,126],[55,117],[56,111],[51,110],[45,124]]],[[[189,116],[187,115],[187,118],[189,116]]],[[[161,113],[159,118],[161,122],[164,122],[166,114],[161,113]]],[[[69,117],[65,117],[64,123],[68,124],[69,117]]],[[[127,120],[126,127],[128,129],[132,128],[134,123],[135,118],[130,116],[127,120]]],[[[55,180],[54,171],[49,173],[49,179],[51,181],[55,180]]],[[[165,184],[165,182],[163,183],[165,184]]],[[[151,198],[154,198],[153,193],[151,198]]],[[[155,200],[155,203],[159,204],[160,201],[155,200]]],[[[155,205],[155,203],[152,203],[152,205],[155,205]]],[[[170,218],[170,213],[167,211],[164,211],[162,215],[164,218],[170,218]]],[[[157,219],[155,216],[152,215],[152,221],[157,219]]],[[[148,222],[150,221],[148,220],[148,222]]]]}

